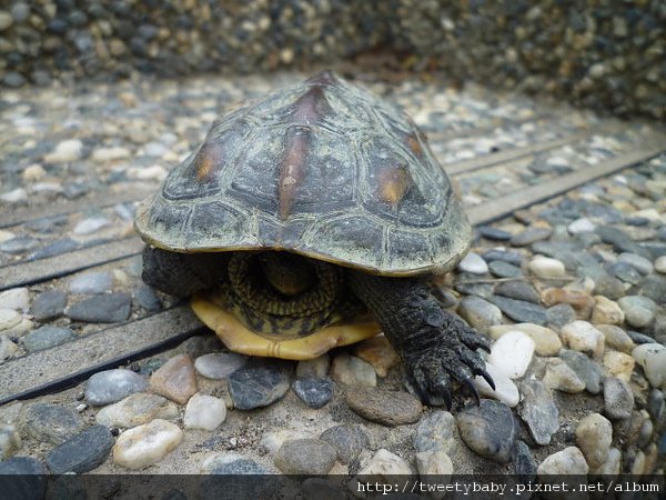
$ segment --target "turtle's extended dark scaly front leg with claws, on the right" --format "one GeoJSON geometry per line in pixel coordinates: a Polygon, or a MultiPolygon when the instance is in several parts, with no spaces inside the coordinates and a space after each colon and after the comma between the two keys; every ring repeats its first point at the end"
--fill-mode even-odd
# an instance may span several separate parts
{"type": "Polygon", "coordinates": [[[349,271],[352,291],[365,303],[401,356],[407,382],[427,404],[452,404],[452,379],[478,400],[474,376],[493,388],[485,363],[475,352],[490,351],[486,339],[445,311],[426,286],[414,279],[384,278],[349,271]]]}

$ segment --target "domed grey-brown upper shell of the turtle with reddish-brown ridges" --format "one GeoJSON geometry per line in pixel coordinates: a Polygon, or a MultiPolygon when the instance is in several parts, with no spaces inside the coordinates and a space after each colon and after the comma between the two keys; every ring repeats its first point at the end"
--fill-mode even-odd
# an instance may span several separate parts
{"type": "Polygon", "coordinates": [[[135,228],[176,252],[286,250],[386,276],[446,271],[471,236],[412,119],[329,71],[216,120],[135,228]]]}

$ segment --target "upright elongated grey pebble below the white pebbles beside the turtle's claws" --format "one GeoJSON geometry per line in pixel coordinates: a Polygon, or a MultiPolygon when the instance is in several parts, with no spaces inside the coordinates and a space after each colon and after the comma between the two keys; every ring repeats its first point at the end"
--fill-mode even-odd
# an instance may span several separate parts
{"type": "Polygon", "coordinates": [[[549,389],[538,380],[521,383],[522,401],[518,414],[529,429],[537,444],[548,444],[551,437],[559,429],[559,411],[549,389]]]}

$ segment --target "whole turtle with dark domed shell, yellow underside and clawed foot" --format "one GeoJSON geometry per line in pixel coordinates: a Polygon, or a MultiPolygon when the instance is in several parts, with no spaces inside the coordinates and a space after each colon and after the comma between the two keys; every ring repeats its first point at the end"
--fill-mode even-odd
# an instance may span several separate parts
{"type": "Polygon", "coordinates": [[[134,227],[143,280],[232,351],[303,360],[383,332],[424,403],[494,387],[487,340],[428,286],[471,244],[447,174],[402,109],[335,72],[216,119],[134,227]]]}

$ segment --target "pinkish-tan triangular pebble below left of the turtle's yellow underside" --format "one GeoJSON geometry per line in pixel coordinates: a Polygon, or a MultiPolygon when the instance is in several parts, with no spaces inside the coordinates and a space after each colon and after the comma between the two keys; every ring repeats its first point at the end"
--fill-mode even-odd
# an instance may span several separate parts
{"type": "Polygon", "coordinates": [[[188,354],[178,354],[150,377],[150,389],[179,404],[185,404],[196,392],[196,372],[188,354]]]}

